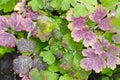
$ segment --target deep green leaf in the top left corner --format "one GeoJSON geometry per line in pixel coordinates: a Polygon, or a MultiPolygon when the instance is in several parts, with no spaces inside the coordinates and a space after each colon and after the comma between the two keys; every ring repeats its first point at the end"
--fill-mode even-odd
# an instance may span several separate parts
{"type": "Polygon", "coordinates": [[[14,9],[14,6],[16,5],[16,0],[9,0],[9,1],[2,1],[3,4],[0,4],[0,10],[3,10],[4,12],[10,12],[14,9]]]}

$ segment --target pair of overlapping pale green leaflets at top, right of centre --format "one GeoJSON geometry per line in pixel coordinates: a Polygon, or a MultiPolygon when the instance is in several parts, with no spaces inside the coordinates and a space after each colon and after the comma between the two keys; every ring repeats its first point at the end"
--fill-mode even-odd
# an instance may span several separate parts
{"type": "Polygon", "coordinates": [[[78,0],[81,4],[78,4],[74,8],[74,16],[75,17],[85,17],[88,14],[91,14],[97,5],[97,0],[78,0]]]}

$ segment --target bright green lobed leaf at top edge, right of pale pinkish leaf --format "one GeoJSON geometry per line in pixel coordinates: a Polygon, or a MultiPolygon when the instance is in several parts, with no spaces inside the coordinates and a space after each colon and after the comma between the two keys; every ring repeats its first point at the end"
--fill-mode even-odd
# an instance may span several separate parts
{"type": "Polygon", "coordinates": [[[45,5],[45,0],[31,0],[28,3],[29,6],[32,7],[34,11],[37,11],[39,9],[42,9],[45,5]]]}

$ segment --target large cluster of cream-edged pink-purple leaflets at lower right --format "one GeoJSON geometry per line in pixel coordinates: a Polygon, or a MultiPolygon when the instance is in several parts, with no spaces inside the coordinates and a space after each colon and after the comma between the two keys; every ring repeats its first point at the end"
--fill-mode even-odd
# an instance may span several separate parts
{"type": "Polygon", "coordinates": [[[95,43],[92,48],[83,50],[82,54],[86,58],[81,60],[81,67],[86,70],[93,69],[96,73],[102,71],[106,66],[114,70],[116,64],[120,64],[118,57],[120,48],[109,44],[103,37],[100,38],[100,43],[95,43]]]}

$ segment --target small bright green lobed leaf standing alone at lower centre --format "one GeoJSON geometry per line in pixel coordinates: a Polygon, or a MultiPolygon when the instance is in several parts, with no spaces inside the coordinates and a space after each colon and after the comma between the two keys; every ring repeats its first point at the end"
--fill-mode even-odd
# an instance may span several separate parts
{"type": "Polygon", "coordinates": [[[50,51],[43,51],[40,53],[40,56],[43,57],[43,61],[47,62],[47,64],[55,62],[55,56],[50,51]]]}

